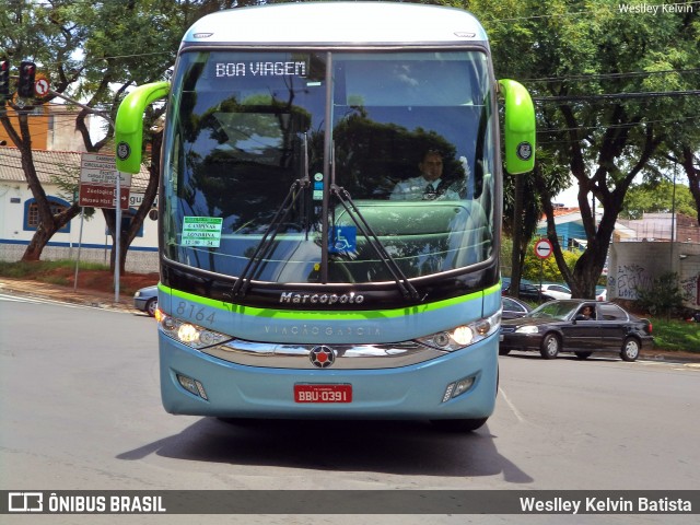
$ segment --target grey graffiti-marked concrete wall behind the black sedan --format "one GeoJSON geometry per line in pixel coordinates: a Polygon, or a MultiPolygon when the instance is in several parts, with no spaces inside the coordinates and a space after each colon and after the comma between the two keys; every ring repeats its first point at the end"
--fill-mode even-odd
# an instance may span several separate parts
{"type": "Polygon", "coordinates": [[[661,275],[678,273],[685,305],[700,310],[700,244],[612,243],[608,272],[608,299],[635,300],[637,289],[649,288],[661,275]]]}

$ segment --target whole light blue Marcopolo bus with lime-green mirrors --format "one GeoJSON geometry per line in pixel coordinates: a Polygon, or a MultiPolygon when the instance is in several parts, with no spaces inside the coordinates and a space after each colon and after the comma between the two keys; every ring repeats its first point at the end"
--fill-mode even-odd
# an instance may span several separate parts
{"type": "Polygon", "coordinates": [[[171,80],[120,104],[118,170],[139,170],[159,100],[165,410],[481,427],[498,393],[501,150],[509,173],[533,168],[535,112],[494,79],[475,16],[381,2],[207,15],[171,80]],[[423,194],[427,159],[440,176],[423,194]]]}

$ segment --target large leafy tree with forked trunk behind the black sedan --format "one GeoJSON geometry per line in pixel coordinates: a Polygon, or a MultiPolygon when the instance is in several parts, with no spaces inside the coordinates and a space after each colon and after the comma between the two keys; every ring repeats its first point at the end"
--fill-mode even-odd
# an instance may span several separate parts
{"type": "Polygon", "coordinates": [[[556,235],[551,173],[533,174],[559,268],[575,296],[593,298],[632,182],[669,143],[691,137],[676,130],[697,116],[688,103],[697,80],[679,73],[699,63],[697,10],[652,16],[604,1],[467,3],[491,35],[497,69],[534,94],[538,155],[548,152],[578,182],[587,245],[571,270],[556,235]],[[603,205],[599,221],[592,196],[603,205]]]}

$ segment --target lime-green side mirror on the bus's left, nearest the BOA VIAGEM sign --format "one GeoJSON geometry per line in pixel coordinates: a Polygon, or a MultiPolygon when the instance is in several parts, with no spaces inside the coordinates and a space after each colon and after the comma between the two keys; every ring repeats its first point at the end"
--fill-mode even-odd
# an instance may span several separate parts
{"type": "Polygon", "coordinates": [[[119,104],[114,126],[115,153],[119,172],[139,173],[141,170],[143,112],[149,104],[159,98],[165,98],[170,89],[168,82],[144,84],[129,93],[119,104]]]}

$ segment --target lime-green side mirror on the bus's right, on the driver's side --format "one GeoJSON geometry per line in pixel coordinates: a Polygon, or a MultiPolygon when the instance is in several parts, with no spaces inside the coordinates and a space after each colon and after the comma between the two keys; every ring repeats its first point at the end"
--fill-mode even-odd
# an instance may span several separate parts
{"type": "Polygon", "coordinates": [[[514,80],[499,80],[505,100],[505,171],[511,175],[535,167],[535,106],[527,90],[514,80]]]}

